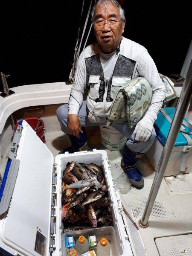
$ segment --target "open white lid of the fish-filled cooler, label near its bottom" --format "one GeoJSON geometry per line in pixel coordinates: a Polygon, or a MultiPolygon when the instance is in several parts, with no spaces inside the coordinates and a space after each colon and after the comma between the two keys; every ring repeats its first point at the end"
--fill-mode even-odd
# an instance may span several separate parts
{"type": "Polygon", "coordinates": [[[0,191],[0,211],[3,213],[6,209],[5,202],[2,203],[4,198],[9,208],[0,221],[0,239],[25,255],[48,255],[54,159],[27,122],[20,122],[17,129],[22,130],[20,141],[18,145],[12,144],[0,191]],[[15,160],[17,175],[12,175],[14,168],[10,166],[15,160]],[[14,184],[9,176],[15,180],[14,184]]]}

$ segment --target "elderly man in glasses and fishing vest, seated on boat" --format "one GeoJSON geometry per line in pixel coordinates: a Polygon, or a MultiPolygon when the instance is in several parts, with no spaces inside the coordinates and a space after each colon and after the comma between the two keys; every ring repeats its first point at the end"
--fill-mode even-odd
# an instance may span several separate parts
{"type": "Polygon", "coordinates": [[[147,50],[122,37],[125,16],[118,1],[96,1],[92,22],[97,43],[81,52],[69,104],[62,105],[57,110],[61,130],[69,134],[72,143],[70,148],[61,153],[87,150],[84,127],[105,125],[111,102],[122,81],[143,76],[153,90],[151,105],[145,116],[133,129],[128,128],[127,122],[113,125],[128,138],[123,150],[122,169],[133,186],[141,189],[144,180],[136,163],[154,141],[156,134],[153,125],[165,99],[166,90],[147,50]],[[85,89],[88,89],[87,101],[83,101],[85,89]]]}

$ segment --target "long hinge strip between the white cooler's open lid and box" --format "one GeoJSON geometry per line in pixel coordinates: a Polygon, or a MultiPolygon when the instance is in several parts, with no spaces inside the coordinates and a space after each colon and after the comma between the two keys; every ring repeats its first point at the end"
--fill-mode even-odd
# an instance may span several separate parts
{"type": "Polygon", "coordinates": [[[55,250],[55,233],[56,233],[56,215],[55,215],[55,201],[56,192],[55,185],[57,184],[57,167],[56,164],[52,168],[52,193],[51,193],[51,227],[50,227],[50,242],[49,242],[49,252],[53,253],[55,250]]]}

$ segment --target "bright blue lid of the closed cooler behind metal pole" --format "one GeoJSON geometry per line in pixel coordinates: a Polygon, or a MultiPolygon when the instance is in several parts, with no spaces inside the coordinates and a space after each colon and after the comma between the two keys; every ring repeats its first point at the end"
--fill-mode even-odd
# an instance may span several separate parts
{"type": "MultiPolygon", "coordinates": [[[[174,116],[174,113],[175,113],[175,108],[173,108],[173,107],[163,108],[163,110],[166,111],[166,113],[169,115],[169,117],[171,119],[173,119],[173,116],[174,116]]],[[[185,118],[184,118],[184,120],[186,122],[188,122],[185,118]]],[[[182,126],[183,126],[183,128],[185,128],[185,130],[187,132],[191,131],[185,125],[182,125],[182,126]]],[[[171,127],[170,122],[165,118],[165,116],[163,116],[163,114],[161,112],[159,112],[158,115],[157,115],[157,120],[154,123],[154,128],[155,128],[155,131],[156,131],[156,134],[157,134],[157,138],[160,140],[160,142],[163,145],[165,145],[165,143],[166,143],[166,138],[168,136],[170,127],[171,127]]],[[[192,139],[192,134],[189,134],[189,136],[192,139]]],[[[183,134],[181,132],[179,132],[179,134],[177,136],[177,140],[175,142],[175,147],[184,146],[184,145],[187,145],[187,140],[183,136],[183,134]]]]}

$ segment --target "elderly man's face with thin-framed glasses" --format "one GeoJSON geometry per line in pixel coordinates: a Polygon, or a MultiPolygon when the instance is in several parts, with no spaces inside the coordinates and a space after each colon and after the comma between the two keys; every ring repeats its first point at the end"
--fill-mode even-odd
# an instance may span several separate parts
{"type": "Polygon", "coordinates": [[[104,48],[118,47],[117,44],[120,43],[120,38],[124,32],[125,20],[122,24],[122,20],[119,13],[119,8],[114,6],[111,2],[107,2],[107,8],[103,3],[99,3],[95,8],[94,12],[94,30],[98,43],[104,48]],[[118,20],[117,27],[113,29],[108,20],[118,20]],[[95,24],[99,23],[100,20],[104,20],[104,26],[98,30],[95,24]],[[108,23],[107,23],[108,22],[108,23]]]}

